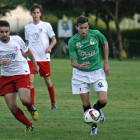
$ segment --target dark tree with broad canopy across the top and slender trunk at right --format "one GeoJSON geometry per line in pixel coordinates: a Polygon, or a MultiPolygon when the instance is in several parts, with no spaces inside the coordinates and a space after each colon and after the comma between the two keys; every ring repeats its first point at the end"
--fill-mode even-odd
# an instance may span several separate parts
{"type": "Polygon", "coordinates": [[[119,23],[124,17],[132,17],[135,13],[140,13],[139,0],[37,0],[37,2],[58,18],[64,14],[68,17],[77,17],[82,13],[86,16],[95,14],[97,18],[100,17],[106,23],[108,31],[110,30],[109,22],[114,20],[120,60],[123,58],[119,23]]]}

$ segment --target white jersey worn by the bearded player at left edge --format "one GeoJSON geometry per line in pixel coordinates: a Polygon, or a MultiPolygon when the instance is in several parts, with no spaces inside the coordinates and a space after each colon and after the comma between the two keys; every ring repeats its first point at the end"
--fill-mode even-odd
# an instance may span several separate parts
{"type": "Polygon", "coordinates": [[[22,52],[27,52],[28,47],[19,36],[10,36],[8,43],[0,41],[0,61],[9,59],[10,65],[1,65],[1,75],[14,76],[30,74],[27,60],[22,56],[22,52]]]}

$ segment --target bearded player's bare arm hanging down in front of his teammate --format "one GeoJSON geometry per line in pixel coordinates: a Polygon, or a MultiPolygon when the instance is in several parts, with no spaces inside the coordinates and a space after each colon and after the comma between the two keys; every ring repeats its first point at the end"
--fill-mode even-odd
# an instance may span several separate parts
{"type": "Polygon", "coordinates": [[[30,60],[32,61],[33,63],[33,66],[34,66],[34,71],[35,73],[37,74],[38,71],[39,71],[39,66],[37,65],[36,61],[35,61],[35,58],[33,56],[33,53],[31,52],[31,50],[28,48],[28,51],[26,52],[26,55],[30,58],[30,60]]]}

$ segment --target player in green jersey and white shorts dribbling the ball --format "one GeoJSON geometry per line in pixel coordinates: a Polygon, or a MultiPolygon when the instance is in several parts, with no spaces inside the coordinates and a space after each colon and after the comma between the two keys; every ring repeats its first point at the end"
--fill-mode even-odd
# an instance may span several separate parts
{"type": "MultiPolygon", "coordinates": [[[[109,76],[108,42],[98,30],[89,29],[89,21],[86,17],[78,17],[76,29],[78,33],[68,42],[71,65],[73,67],[72,92],[80,95],[85,112],[91,108],[89,92],[90,84],[92,84],[99,98],[93,104],[93,108],[100,113],[100,123],[104,123],[105,117],[101,108],[107,104],[108,84],[106,76],[109,76]],[[105,52],[104,65],[101,58],[102,45],[105,52]]],[[[97,132],[96,124],[91,127],[90,135],[97,134],[97,132]]]]}

